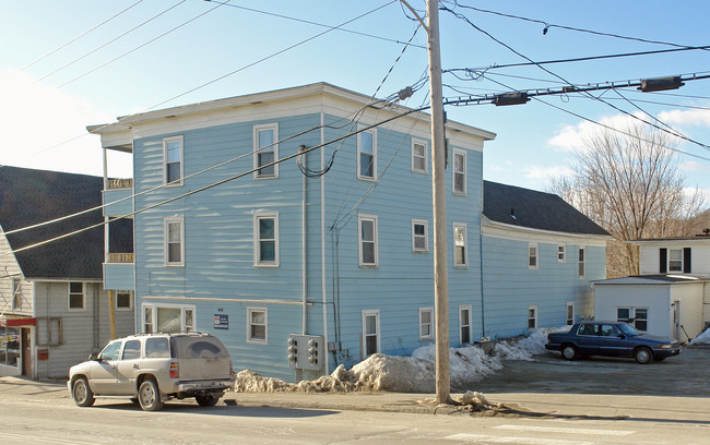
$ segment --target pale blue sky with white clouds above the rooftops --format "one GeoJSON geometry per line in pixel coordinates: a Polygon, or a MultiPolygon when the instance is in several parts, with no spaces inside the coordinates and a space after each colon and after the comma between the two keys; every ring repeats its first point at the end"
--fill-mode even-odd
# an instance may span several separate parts
{"type": "MultiPolygon", "coordinates": [[[[411,4],[424,9],[424,0],[411,0],[411,4]]],[[[682,8],[658,0],[460,0],[459,5],[452,1],[441,4],[534,61],[673,47],[558,26],[549,26],[543,34],[544,24],[462,5],[548,25],[682,46],[710,45],[710,4],[703,0],[684,2],[682,8]]],[[[0,146],[0,164],[100,175],[98,137],[86,135],[85,127],[113,121],[117,116],[321,81],[371,95],[402,51],[401,43],[407,41],[417,27],[407,15],[399,2],[388,0],[233,0],[229,5],[203,0],[1,2],[0,113],[4,144],[0,146]],[[362,14],[366,15],[343,26],[347,32],[331,31],[318,37],[329,28],[277,16],[336,26],[362,14]],[[270,57],[279,51],[283,52],[270,57]],[[67,141],[71,142],[62,144],[67,141]]],[[[440,19],[445,70],[525,62],[451,13],[440,11],[440,19]]],[[[380,97],[414,84],[425,72],[425,32],[418,29],[412,43],[380,89],[380,97]]],[[[469,81],[445,74],[445,96],[559,87],[559,77],[587,84],[709,74],[710,52],[679,51],[545,67],[556,76],[537,67],[489,69],[483,79],[469,81]]],[[[428,86],[406,105],[421,105],[427,92],[428,86]]],[[[710,145],[710,80],[687,82],[667,93],[642,94],[635,88],[619,93],[623,97],[611,91],[601,97],[643,116],[635,108],[639,107],[689,139],[710,145]]],[[[513,107],[447,107],[449,119],[498,134],[485,146],[485,179],[541,190],[551,176],[570,173],[571,149],[597,131],[579,116],[622,125],[630,119],[589,97],[547,96],[542,100],[549,105],[531,100],[513,107]]],[[[710,151],[689,142],[679,142],[677,149],[686,153],[678,154],[678,163],[688,185],[702,189],[710,202],[710,151]]],[[[126,158],[111,159],[109,172],[130,176],[128,166],[126,158]]]]}

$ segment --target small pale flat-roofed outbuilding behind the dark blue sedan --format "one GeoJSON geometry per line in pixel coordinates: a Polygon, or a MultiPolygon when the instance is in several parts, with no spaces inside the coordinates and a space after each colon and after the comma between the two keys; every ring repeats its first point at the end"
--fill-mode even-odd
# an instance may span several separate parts
{"type": "Polygon", "coordinates": [[[596,320],[628,321],[640,332],[681,342],[705,328],[703,302],[710,301],[710,280],[705,277],[642,275],[592,286],[596,320]]]}

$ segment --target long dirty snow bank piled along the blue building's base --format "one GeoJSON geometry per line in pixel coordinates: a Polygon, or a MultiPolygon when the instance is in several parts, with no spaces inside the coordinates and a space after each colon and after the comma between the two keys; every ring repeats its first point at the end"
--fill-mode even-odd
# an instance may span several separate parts
{"type": "MultiPolygon", "coordinates": [[[[531,360],[534,354],[545,353],[547,334],[568,328],[540,329],[530,337],[514,342],[501,341],[494,348],[494,356],[486,354],[477,346],[449,348],[451,386],[465,387],[486,375],[495,373],[502,369],[501,360],[531,360]]],[[[237,374],[235,390],[252,393],[352,393],[376,390],[434,393],[436,390],[435,363],[436,346],[431,344],[415,349],[412,357],[392,357],[376,353],[351,370],[346,370],[341,364],[330,375],[299,383],[287,383],[279,378],[263,377],[252,371],[245,370],[237,374]]]]}

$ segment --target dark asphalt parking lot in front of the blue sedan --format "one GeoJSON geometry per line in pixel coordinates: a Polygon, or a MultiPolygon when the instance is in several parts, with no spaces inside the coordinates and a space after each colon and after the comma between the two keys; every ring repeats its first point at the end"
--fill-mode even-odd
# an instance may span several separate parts
{"type": "MultiPolygon", "coordinates": [[[[631,359],[564,360],[559,353],[533,361],[506,361],[480,382],[487,393],[563,393],[710,397],[710,347],[685,348],[678,357],[640,365],[631,359]]],[[[464,388],[461,388],[464,389],[464,388]]]]}

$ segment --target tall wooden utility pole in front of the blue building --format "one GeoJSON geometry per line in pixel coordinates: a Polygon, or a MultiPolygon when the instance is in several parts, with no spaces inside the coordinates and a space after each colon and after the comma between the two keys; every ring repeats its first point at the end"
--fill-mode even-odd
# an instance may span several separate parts
{"type": "Polygon", "coordinates": [[[446,148],[443,94],[439,45],[439,2],[427,0],[428,25],[406,0],[400,0],[419,21],[428,36],[429,98],[431,100],[431,202],[434,207],[434,311],[436,317],[436,401],[451,402],[449,365],[449,276],[447,264],[446,148]]]}

